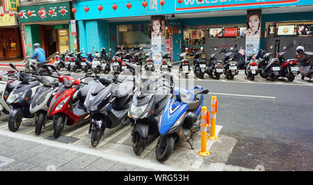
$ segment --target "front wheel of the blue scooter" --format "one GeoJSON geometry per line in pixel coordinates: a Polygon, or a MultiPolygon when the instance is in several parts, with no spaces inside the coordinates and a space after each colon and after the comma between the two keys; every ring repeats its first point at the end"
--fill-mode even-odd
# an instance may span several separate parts
{"type": "Polygon", "coordinates": [[[161,136],[157,143],[155,155],[160,162],[168,160],[174,150],[174,137],[173,136],[161,136]]]}

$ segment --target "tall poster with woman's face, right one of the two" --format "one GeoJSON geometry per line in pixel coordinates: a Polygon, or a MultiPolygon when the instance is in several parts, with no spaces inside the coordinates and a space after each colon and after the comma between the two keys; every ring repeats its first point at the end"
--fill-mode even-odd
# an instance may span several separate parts
{"type": "Polygon", "coordinates": [[[262,10],[248,10],[247,13],[246,60],[248,55],[259,51],[262,10]]]}

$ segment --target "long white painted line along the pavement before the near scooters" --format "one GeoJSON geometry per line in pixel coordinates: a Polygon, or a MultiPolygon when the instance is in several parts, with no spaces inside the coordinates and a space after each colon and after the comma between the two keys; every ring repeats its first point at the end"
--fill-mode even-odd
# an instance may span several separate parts
{"type": "Polygon", "coordinates": [[[161,170],[161,171],[181,171],[182,170],[179,168],[172,168],[170,166],[155,163],[153,161],[138,159],[136,157],[118,156],[115,153],[106,152],[103,150],[101,150],[101,151],[95,150],[94,148],[83,148],[83,147],[73,146],[73,145],[69,145],[69,144],[65,144],[65,143],[58,143],[56,141],[49,141],[46,139],[40,139],[37,136],[29,136],[29,135],[24,135],[24,134],[19,134],[19,133],[7,132],[7,131],[3,131],[3,130],[0,130],[0,135],[13,137],[16,139],[22,139],[24,141],[41,143],[41,144],[46,145],[46,146],[61,148],[61,149],[65,149],[65,150],[81,152],[81,153],[84,153],[86,155],[94,155],[94,156],[102,157],[103,159],[107,159],[110,161],[116,161],[116,162],[120,162],[122,164],[129,164],[131,166],[138,166],[141,168],[148,168],[151,170],[161,170]]]}

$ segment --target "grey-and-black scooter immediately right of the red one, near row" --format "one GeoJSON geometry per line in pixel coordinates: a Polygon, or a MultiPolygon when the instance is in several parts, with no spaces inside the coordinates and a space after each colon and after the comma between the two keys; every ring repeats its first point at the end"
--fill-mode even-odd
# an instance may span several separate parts
{"type": "Polygon", "coordinates": [[[97,146],[106,128],[114,128],[127,120],[127,113],[134,95],[134,85],[125,78],[113,80],[94,76],[99,82],[88,91],[85,100],[86,111],[90,112],[90,127],[92,146],[97,146]],[[112,91],[112,82],[117,87],[112,91]]]}

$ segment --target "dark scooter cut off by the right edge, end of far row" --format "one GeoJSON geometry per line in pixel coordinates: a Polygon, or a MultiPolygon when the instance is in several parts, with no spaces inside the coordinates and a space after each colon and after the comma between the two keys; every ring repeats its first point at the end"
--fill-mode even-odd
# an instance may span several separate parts
{"type": "Polygon", "coordinates": [[[305,51],[305,60],[300,62],[300,73],[301,73],[301,80],[304,80],[305,77],[313,78],[313,52],[305,51]]]}

